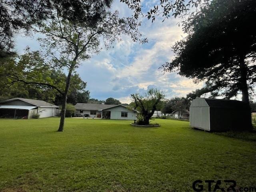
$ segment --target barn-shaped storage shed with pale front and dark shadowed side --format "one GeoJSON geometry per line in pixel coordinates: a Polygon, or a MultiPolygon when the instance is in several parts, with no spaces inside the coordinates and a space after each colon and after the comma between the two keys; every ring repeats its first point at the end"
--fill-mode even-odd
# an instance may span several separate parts
{"type": "Polygon", "coordinates": [[[249,106],[238,100],[196,98],[190,105],[190,126],[202,130],[221,132],[246,130],[249,106]]]}

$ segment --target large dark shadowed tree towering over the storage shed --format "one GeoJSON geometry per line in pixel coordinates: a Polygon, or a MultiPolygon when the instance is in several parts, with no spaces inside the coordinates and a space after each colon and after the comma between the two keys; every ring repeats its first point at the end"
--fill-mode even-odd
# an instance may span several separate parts
{"type": "Polygon", "coordinates": [[[251,28],[255,18],[255,0],[213,0],[189,17],[188,36],[176,42],[175,58],[162,68],[204,80],[206,87],[197,93],[225,98],[242,94],[249,105],[256,83],[256,31],[251,28]]]}

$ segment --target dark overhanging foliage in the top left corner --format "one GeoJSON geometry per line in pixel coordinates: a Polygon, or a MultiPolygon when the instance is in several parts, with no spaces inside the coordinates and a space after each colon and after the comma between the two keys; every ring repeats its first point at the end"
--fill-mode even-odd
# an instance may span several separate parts
{"type": "Polygon", "coordinates": [[[0,59],[13,53],[17,32],[29,34],[31,28],[58,14],[67,20],[93,25],[104,17],[112,0],[1,0],[0,59]]]}

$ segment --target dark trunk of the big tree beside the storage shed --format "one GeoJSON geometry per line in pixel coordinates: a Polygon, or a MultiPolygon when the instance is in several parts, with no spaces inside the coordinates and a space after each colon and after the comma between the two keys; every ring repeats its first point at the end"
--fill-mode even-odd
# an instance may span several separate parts
{"type": "Polygon", "coordinates": [[[247,112],[247,118],[246,118],[246,126],[248,128],[245,128],[247,130],[252,130],[252,113],[250,109],[250,102],[249,102],[249,92],[248,92],[248,84],[247,84],[247,73],[248,68],[245,64],[245,55],[240,56],[239,61],[239,68],[240,68],[240,89],[242,92],[242,102],[245,102],[248,105],[248,112],[247,112]]]}

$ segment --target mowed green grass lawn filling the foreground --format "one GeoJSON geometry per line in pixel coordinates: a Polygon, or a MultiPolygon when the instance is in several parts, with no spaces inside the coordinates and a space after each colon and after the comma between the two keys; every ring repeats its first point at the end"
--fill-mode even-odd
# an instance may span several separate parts
{"type": "MultiPolygon", "coordinates": [[[[156,119],[0,119],[0,191],[193,191],[194,180],[256,186],[256,142],[156,119]]],[[[205,187],[206,188],[206,187],[205,187]]]]}

